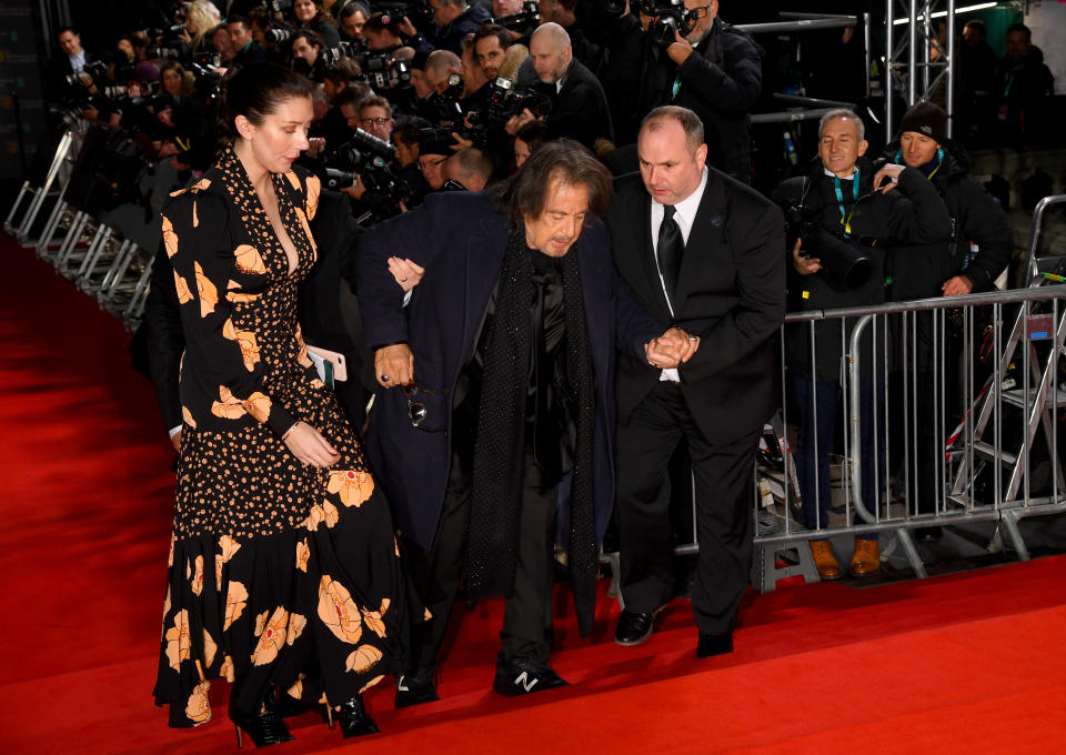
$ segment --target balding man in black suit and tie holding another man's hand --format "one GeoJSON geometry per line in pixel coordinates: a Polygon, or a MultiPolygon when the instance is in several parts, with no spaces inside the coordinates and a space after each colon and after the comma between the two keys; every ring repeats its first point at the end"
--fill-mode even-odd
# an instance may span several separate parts
{"type": "Polygon", "coordinates": [[[700,118],[653,110],[640,174],[616,180],[607,213],[619,272],[662,328],[700,336],[678,370],[619,359],[619,523],[624,610],[615,641],[635,645],[673,597],[667,462],[685,439],[700,560],[692,606],[697,656],[733,648],[752,547],[752,470],[776,405],[772,336],[785,313],[784,219],[762,195],[706,167],[700,118]]]}

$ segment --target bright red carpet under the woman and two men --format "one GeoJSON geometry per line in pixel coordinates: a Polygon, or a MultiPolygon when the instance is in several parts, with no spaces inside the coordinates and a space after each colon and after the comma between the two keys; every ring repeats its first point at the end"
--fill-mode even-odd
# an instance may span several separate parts
{"type": "MultiPolygon", "coordinates": [[[[167,728],[152,704],[171,453],[129,336],[0,235],[0,753],[230,753],[217,719],[167,728]]],[[[1066,557],[855,591],[752,597],[736,651],[696,662],[688,605],[635,648],[616,607],[577,636],[559,597],[562,691],[490,691],[501,606],[467,615],[439,703],[344,742],[313,715],[278,753],[1057,753],[1066,742],[1066,557]]],[[[250,744],[247,745],[250,747],[250,744]]]]}

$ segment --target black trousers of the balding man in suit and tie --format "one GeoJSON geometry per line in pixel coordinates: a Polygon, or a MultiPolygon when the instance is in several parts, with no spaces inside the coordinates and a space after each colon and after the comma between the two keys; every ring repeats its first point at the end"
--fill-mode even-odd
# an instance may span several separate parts
{"type": "Polygon", "coordinates": [[[658,383],[617,432],[622,596],[627,611],[654,611],[674,596],[667,463],[688,442],[696,490],[700,557],[692,596],[701,633],[736,626],[752,560],[752,471],[758,432],[710,443],[688,413],[681,386],[658,383]]]}

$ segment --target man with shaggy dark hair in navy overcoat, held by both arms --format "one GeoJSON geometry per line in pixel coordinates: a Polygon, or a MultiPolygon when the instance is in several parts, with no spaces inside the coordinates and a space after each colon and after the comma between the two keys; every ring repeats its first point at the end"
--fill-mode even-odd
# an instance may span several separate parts
{"type": "Polygon", "coordinates": [[[553,542],[567,548],[579,625],[591,631],[614,502],[617,350],[654,375],[650,362],[676,364],[697,346],[663,333],[617,276],[596,218],[610,189],[584,148],[559,140],[493,194],[431,194],[360,241],[358,294],[384,389],[366,451],[433,613],[418,625],[398,706],[438,698],[464,572],[467,600],[506,595],[501,694],[566,684],[547,665],[553,542]],[[425,269],[405,309],[392,255],[425,269]]]}

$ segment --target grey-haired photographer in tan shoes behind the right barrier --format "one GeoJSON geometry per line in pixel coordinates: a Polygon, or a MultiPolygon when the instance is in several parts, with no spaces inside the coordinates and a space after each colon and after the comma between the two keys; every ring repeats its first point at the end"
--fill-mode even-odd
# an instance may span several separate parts
{"type": "MultiPolygon", "coordinates": [[[[867,148],[864,131],[863,121],[849,110],[826,113],[818,129],[818,160],[807,175],[790,179],[776,192],[775,201],[785,210],[787,228],[796,236],[795,241],[790,236],[787,250],[792,311],[884,302],[886,258],[895,256],[907,264],[924,250],[943,245],[951,231],[943,202],[918,171],[891,167],[885,175],[896,191],[876,190],[874,168],[863,157],[867,148]]],[[[879,178],[881,173],[876,175],[879,178]]],[[[847,321],[845,339],[853,328],[854,320],[847,321]]],[[[796,472],[803,494],[804,525],[815,530],[828,524],[832,505],[829,454],[841,396],[842,333],[838,322],[815,323],[817,362],[812,364],[809,324],[787,330],[786,361],[800,415],[796,472]]],[[[875,491],[887,472],[882,439],[875,440],[873,432],[875,395],[878,416],[884,407],[884,381],[878,375],[885,354],[878,348],[875,369],[871,344],[867,336],[859,362],[864,374],[862,495],[867,507],[873,507],[875,491]],[[875,444],[881,446],[876,451],[875,444]],[[874,476],[875,469],[882,473],[881,481],[874,476]]],[[[883,420],[878,422],[884,426],[883,420]]],[[[822,578],[839,578],[841,568],[828,541],[812,541],[811,551],[822,578]]],[[[856,538],[852,575],[868,576],[879,568],[876,537],[856,538]]]]}

